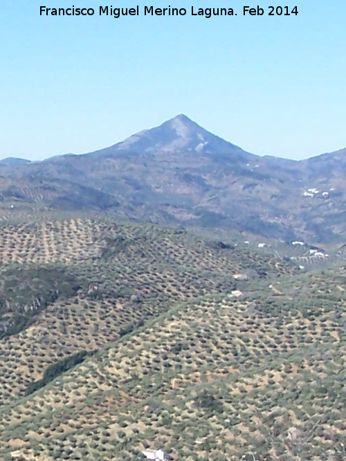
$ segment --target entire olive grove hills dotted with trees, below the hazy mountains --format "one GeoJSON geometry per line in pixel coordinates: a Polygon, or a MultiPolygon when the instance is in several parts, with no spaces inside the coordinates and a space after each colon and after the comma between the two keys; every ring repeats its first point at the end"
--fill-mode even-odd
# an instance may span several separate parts
{"type": "Polygon", "coordinates": [[[82,219],[0,249],[0,458],[346,459],[345,267],[82,219]]]}

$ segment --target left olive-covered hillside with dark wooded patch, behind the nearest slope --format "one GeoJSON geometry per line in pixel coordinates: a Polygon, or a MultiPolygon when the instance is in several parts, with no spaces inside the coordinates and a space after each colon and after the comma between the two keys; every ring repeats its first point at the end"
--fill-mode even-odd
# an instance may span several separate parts
{"type": "Polygon", "coordinates": [[[239,285],[232,274],[245,270],[259,279],[296,272],[270,256],[220,250],[183,231],[92,220],[3,227],[0,252],[3,404],[22,395],[54,359],[96,350],[172,303],[232,292],[239,285]],[[12,368],[18,351],[19,382],[12,368]]]}

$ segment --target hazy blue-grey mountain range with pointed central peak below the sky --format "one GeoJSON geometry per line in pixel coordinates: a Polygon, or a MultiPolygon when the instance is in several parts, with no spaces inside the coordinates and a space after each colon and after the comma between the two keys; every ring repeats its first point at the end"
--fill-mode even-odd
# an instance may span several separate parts
{"type": "Polygon", "coordinates": [[[111,147],[0,162],[0,199],[244,236],[346,239],[346,149],[295,161],[256,156],[177,115],[111,147]]]}

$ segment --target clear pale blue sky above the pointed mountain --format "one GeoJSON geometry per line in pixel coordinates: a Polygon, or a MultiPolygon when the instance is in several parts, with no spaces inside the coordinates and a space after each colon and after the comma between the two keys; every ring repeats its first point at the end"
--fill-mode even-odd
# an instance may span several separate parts
{"type": "MultiPolygon", "coordinates": [[[[1,0],[0,158],[82,153],[185,113],[253,153],[346,147],[346,2],[280,0],[298,16],[243,17],[247,0],[148,0],[185,17],[100,17],[136,0],[1,0]],[[94,7],[40,17],[39,6],[94,7]],[[191,17],[233,7],[236,17],[191,17]]],[[[250,3],[251,4],[251,3],[250,3]]]]}

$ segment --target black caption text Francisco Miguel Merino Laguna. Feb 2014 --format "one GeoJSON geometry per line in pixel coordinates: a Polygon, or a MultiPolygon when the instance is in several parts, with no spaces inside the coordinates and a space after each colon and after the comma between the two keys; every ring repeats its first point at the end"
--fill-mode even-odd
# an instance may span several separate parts
{"type": "MultiPolygon", "coordinates": [[[[143,12],[144,16],[185,16],[190,11],[191,16],[203,16],[210,18],[212,16],[237,16],[237,12],[234,8],[198,8],[191,6],[190,10],[186,8],[173,8],[168,6],[167,8],[154,8],[154,6],[144,6],[140,10],[140,7],[134,6],[133,8],[113,8],[113,6],[100,6],[98,9],[95,8],[47,8],[46,6],[39,7],[40,16],[111,16],[114,18],[120,18],[122,16],[139,16],[140,11],[143,12]]],[[[296,6],[269,6],[267,8],[261,8],[256,6],[242,7],[242,15],[247,16],[291,16],[298,15],[298,9],[296,6]]]]}

